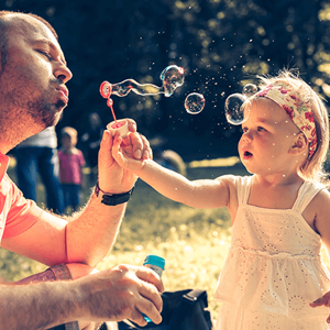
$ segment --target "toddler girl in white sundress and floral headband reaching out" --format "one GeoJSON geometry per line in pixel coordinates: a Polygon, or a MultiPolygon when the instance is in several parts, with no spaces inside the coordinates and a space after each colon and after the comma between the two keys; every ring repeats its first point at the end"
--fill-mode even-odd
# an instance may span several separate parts
{"type": "Polygon", "coordinates": [[[228,208],[232,240],[216,290],[222,302],[217,329],[330,329],[330,276],[320,260],[321,241],[330,248],[322,173],[328,113],[290,73],[261,80],[261,91],[246,101],[239,142],[252,176],[190,182],[151,160],[133,160],[118,134],[112,154],[168,198],[228,208]]]}

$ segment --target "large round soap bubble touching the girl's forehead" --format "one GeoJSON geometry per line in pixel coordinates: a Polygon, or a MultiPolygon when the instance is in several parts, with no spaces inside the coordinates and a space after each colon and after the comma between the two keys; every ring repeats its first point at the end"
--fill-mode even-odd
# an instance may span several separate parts
{"type": "Polygon", "coordinates": [[[240,125],[248,119],[246,113],[244,117],[245,101],[246,97],[238,92],[227,98],[224,103],[224,112],[229,123],[233,125],[240,125]]]}

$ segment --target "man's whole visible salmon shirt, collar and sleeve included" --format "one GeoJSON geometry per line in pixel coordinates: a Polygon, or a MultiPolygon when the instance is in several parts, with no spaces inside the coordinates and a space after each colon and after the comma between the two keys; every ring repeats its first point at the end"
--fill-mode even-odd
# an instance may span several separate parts
{"type": "Polygon", "coordinates": [[[0,153],[0,242],[26,231],[44,212],[9,178],[8,164],[9,157],[0,153]]]}

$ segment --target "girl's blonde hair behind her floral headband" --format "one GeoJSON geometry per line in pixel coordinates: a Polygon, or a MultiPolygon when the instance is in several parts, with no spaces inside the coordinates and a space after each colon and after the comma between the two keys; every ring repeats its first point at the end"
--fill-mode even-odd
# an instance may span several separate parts
{"type": "Polygon", "coordinates": [[[330,186],[330,180],[323,169],[329,148],[329,114],[324,103],[318,94],[299,77],[298,73],[282,70],[276,77],[262,76],[258,78],[261,79],[261,89],[275,82],[287,85],[292,89],[290,92],[295,94],[297,102],[307,105],[311,109],[316,125],[317,148],[312,156],[300,165],[299,175],[306,180],[330,186]]]}

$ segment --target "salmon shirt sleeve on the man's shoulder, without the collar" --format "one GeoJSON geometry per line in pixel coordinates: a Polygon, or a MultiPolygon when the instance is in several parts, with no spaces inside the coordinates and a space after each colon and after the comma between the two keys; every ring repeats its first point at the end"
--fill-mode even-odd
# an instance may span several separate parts
{"type": "Polygon", "coordinates": [[[11,182],[7,198],[10,198],[3,239],[19,235],[31,228],[45,212],[33,200],[25,199],[22,191],[11,182]]]}

